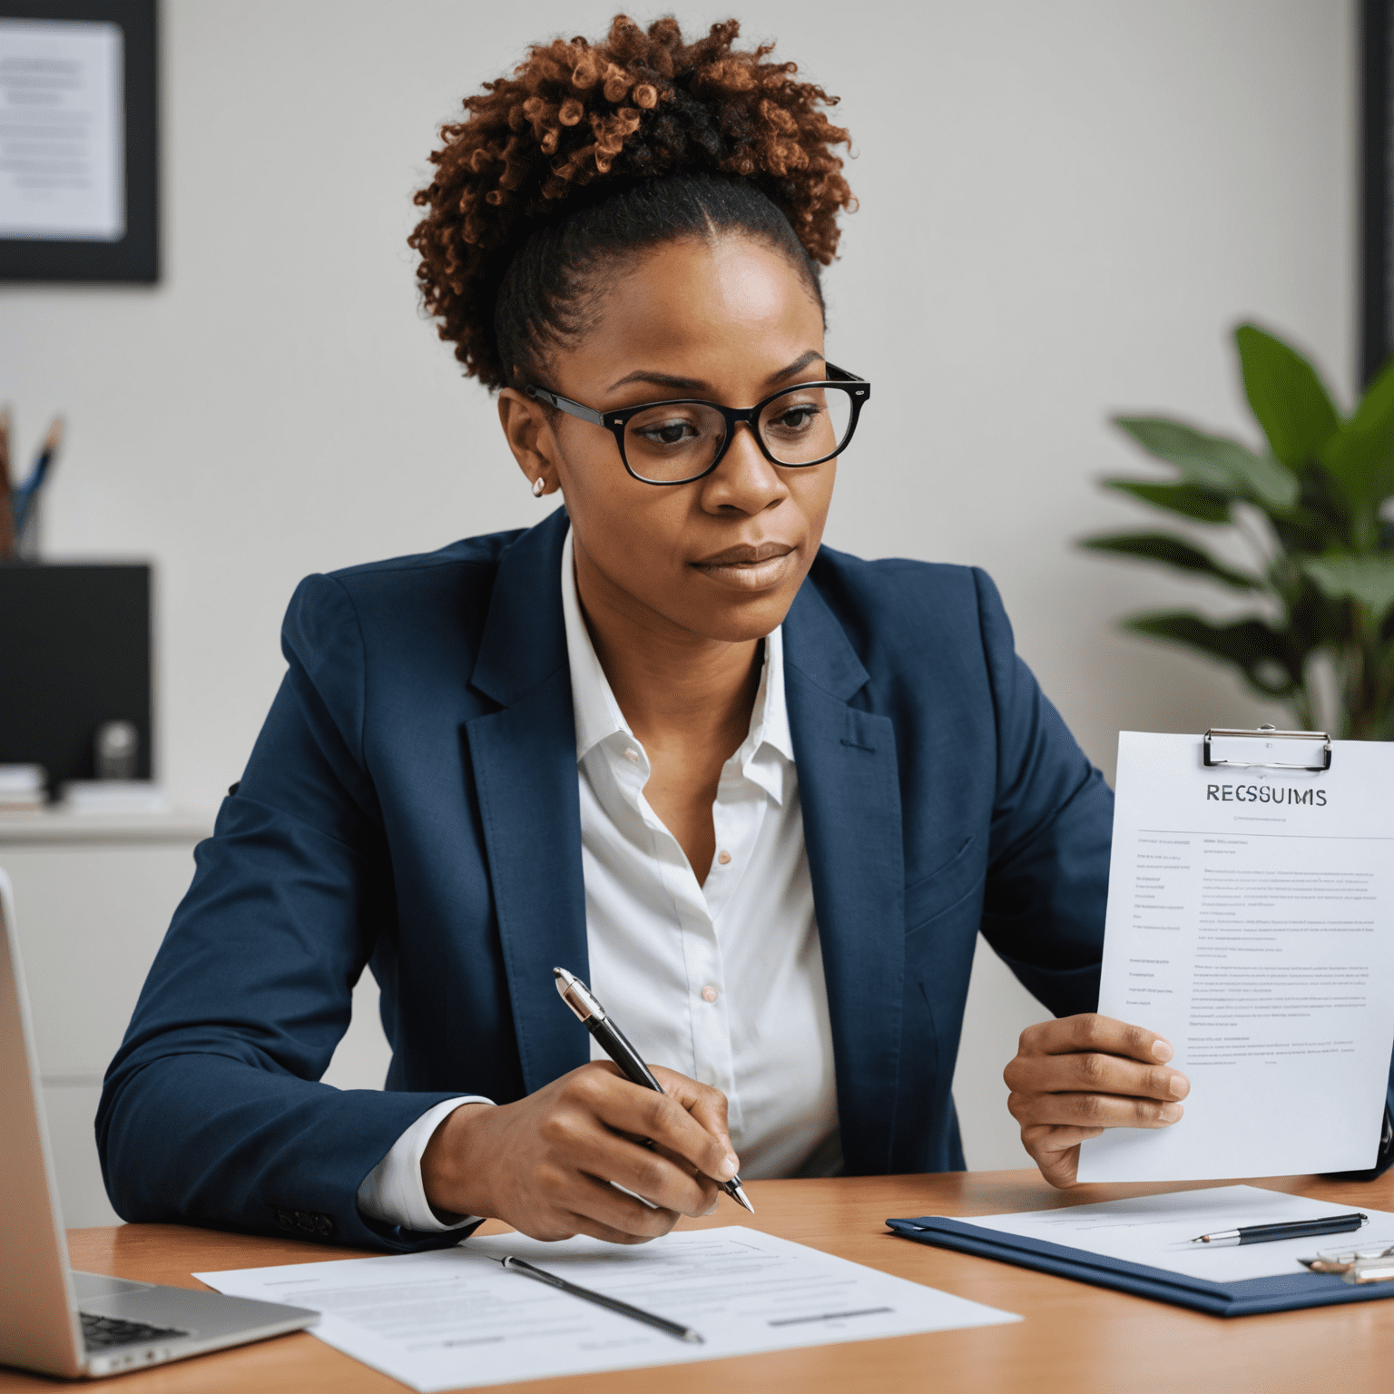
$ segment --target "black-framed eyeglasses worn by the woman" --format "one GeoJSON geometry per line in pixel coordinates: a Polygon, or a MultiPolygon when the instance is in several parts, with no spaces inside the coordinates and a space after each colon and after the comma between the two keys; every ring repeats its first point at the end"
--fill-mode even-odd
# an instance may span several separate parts
{"type": "Polygon", "coordinates": [[[691,484],[721,464],[736,427],[750,427],[764,457],[788,470],[806,470],[841,454],[871,396],[866,378],[827,364],[827,378],[800,382],[753,407],[676,397],[619,411],[597,411],[545,388],[527,395],[615,436],[625,468],[643,484],[691,484]]]}

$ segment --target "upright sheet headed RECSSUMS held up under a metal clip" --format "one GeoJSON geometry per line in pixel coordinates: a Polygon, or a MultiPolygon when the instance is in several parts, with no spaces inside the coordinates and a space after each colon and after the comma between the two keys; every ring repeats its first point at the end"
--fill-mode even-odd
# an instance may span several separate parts
{"type": "Polygon", "coordinates": [[[1374,1165],[1394,1047],[1390,789],[1390,743],[1334,742],[1313,774],[1206,768],[1199,736],[1119,735],[1098,1009],[1165,1036],[1190,1096],[1172,1128],[1086,1142],[1080,1181],[1374,1165]]]}

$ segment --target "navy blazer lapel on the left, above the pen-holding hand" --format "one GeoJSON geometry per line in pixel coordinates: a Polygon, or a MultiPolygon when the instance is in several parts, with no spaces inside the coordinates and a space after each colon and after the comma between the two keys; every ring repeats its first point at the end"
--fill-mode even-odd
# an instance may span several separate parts
{"type": "Polygon", "coordinates": [[[471,686],[500,710],[466,722],[527,1093],[584,1065],[590,1040],[552,969],[588,977],[576,718],[558,577],[566,514],[499,563],[471,686]]]}

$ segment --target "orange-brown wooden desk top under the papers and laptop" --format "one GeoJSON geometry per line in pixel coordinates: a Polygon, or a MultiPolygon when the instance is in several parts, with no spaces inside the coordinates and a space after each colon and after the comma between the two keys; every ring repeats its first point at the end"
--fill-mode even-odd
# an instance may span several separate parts
{"type": "MultiPolygon", "coordinates": [[[[1313,1177],[1262,1181],[1331,1200],[1342,1209],[1394,1210],[1394,1171],[1370,1184],[1313,1177]]],[[[664,1394],[721,1390],[758,1394],[818,1391],[1052,1390],[1118,1394],[1121,1390],[1330,1390],[1333,1394],[1394,1388],[1394,1299],[1235,1320],[1030,1273],[990,1259],[931,1249],[891,1235],[888,1216],[972,1216],[1047,1209],[1144,1195],[1175,1186],[1085,1186],[1051,1190],[1033,1171],[979,1171],[937,1177],[855,1177],[834,1181],[754,1181],[758,1214],[722,1204],[694,1227],[750,1224],[916,1282],[1019,1312],[1025,1322],[972,1331],[895,1337],[804,1351],[666,1366],[664,1394]]],[[[502,1225],[491,1225],[502,1230],[502,1225]]],[[[351,1250],[280,1239],[188,1230],[120,1225],[74,1230],[75,1267],[124,1278],[198,1287],[194,1270],[307,1263],[354,1257],[351,1250]]],[[[0,1370],[0,1391],[49,1390],[59,1381],[0,1370]]],[[[93,1386],[86,1386],[92,1388],[93,1386]]],[[[620,1370],[572,1380],[499,1388],[519,1394],[652,1394],[654,1370],[620,1370]]],[[[312,1335],[205,1355],[124,1374],[113,1394],[388,1394],[404,1386],[340,1355],[312,1335]]]]}

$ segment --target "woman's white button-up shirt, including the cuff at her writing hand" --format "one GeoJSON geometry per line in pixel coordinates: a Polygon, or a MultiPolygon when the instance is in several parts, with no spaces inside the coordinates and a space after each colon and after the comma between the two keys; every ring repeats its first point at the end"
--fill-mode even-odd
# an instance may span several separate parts
{"type": "MultiPolygon", "coordinates": [[[[765,638],[750,733],[722,768],[717,855],[698,882],[644,797],[648,756],[595,657],[570,534],[560,581],[590,986],[644,1059],[726,1096],[743,1179],[797,1174],[835,1143],[838,1112],[782,631],[765,638]]],[[[604,1058],[594,1041],[591,1057],[604,1058]]],[[[411,1230],[452,1228],[427,1204],[421,1153],[471,1097],[438,1104],[401,1135],[358,1190],[365,1214],[411,1230]]]]}

